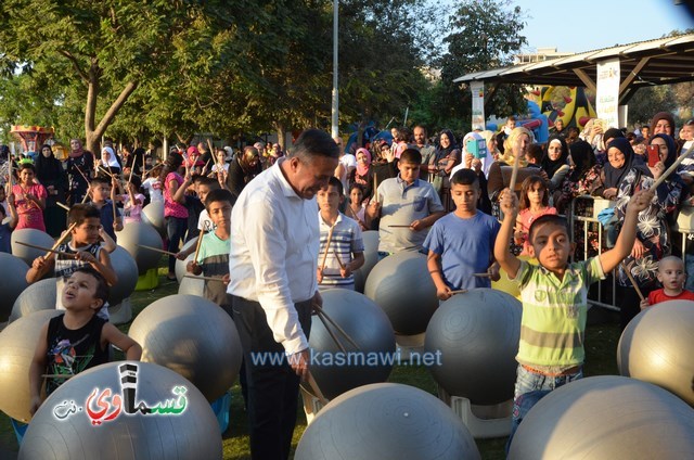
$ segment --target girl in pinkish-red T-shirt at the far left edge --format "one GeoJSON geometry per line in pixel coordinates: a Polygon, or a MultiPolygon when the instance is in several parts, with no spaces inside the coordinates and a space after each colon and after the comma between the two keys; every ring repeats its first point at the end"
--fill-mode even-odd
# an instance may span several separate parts
{"type": "Polygon", "coordinates": [[[36,183],[36,169],[31,163],[20,163],[18,183],[12,186],[14,206],[20,215],[20,222],[15,230],[36,229],[46,231],[43,209],[46,209],[46,188],[36,183]]]}

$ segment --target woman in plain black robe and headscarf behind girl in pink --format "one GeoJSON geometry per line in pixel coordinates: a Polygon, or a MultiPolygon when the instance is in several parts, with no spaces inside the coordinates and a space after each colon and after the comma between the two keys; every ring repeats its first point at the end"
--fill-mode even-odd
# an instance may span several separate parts
{"type": "Polygon", "coordinates": [[[57,205],[57,203],[65,203],[66,177],[63,165],[53,155],[49,144],[43,144],[41,154],[36,159],[36,178],[48,192],[43,210],[46,231],[51,237],[59,238],[65,230],[67,220],[65,209],[57,205]]]}

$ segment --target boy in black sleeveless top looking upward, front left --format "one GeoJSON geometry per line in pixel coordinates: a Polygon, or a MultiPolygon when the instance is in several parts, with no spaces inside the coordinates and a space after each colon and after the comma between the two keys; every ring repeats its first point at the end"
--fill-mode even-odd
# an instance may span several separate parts
{"type": "Polygon", "coordinates": [[[100,272],[82,267],[73,272],[59,293],[65,312],[51,318],[41,329],[29,368],[31,414],[42,403],[43,379],[49,396],[69,376],[108,362],[110,344],[120,348],[126,359],[140,360],[142,355],[136,341],[97,315],[108,297],[108,285],[100,272]]]}

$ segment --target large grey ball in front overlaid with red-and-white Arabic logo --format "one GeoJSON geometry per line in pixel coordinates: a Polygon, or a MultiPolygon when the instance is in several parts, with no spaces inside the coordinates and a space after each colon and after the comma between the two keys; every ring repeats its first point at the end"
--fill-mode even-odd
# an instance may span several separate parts
{"type": "MultiPolygon", "coordinates": [[[[92,410],[99,412],[100,406],[91,403],[92,410]]],[[[189,381],[162,366],[116,361],[89,369],[55,389],[34,416],[18,458],[221,459],[222,440],[209,403],[189,381]],[[123,366],[129,370],[121,374],[123,366]],[[132,389],[121,389],[121,375],[128,385],[134,381],[134,394],[132,389]],[[94,397],[105,391],[111,393],[102,399],[106,410],[98,424],[92,424],[87,411],[88,398],[94,391],[94,397]],[[120,411],[113,420],[105,420],[115,412],[117,398],[120,411]],[[127,413],[128,400],[133,400],[136,408],[142,405],[142,410],[164,410],[127,413]],[[179,411],[183,403],[180,413],[167,409],[172,406],[179,411]],[[70,412],[73,408],[75,411],[70,412]]]]}

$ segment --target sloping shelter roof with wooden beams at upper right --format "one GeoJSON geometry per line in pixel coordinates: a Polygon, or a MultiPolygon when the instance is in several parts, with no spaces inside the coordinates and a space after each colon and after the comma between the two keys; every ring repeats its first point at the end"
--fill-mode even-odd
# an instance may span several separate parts
{"type": "Polygon", "coordinates": [[[596,64],[619,59],[620,95],[644,86],[694,80],[694,34],[659,38],[602,50],[587,51],[512,67],[476,72],[453,81],[489,84],[583,86],[595,89],[596,64]]]}

